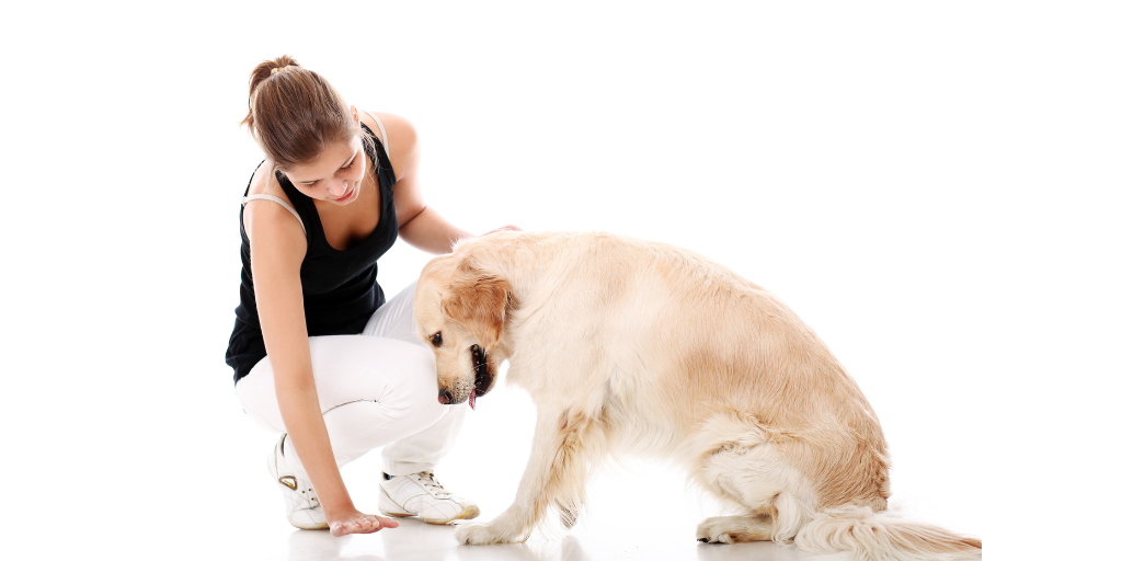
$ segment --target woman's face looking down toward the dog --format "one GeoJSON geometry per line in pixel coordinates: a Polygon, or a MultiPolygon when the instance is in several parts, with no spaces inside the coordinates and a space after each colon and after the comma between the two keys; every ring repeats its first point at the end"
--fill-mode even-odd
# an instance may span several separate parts
{"type": "Polygon", "coordinates": [[[358,136],[350,142],[334,142],[312,162],[285,169],[301,193],[332,204],[350,204],[358,199],[366,177],[366,153],[358,136]]]}

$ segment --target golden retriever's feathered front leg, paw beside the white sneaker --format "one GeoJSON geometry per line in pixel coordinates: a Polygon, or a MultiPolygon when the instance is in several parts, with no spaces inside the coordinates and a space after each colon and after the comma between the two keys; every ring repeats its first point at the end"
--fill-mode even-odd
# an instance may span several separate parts
{"type": "Polygon", "coordinates": [[[571,526],[585,502],[591,427],[590,421],[568,411],[540,412],[530,461],[514,504],[487,524],[459,528],[456,537],[475,545],[523,542],[554,502],[561,508],[562,521],[571,526]]]}

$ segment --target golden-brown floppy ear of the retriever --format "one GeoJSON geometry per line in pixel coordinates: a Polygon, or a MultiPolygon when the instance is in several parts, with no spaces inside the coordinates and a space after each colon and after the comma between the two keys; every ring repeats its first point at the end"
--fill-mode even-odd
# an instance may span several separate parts
{"type": "Polygon", "coordinates": [[[461,263],[452,275],[441,311],[479,338],[484,349],[498,342],[507,312],[514,305],[511,283],[461,263]]]}

